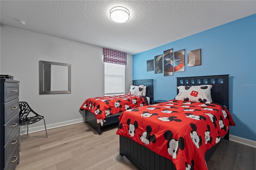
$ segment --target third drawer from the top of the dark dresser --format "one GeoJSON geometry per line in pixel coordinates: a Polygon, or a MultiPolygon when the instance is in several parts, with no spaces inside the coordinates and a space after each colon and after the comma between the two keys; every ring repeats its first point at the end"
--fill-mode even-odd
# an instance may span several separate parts
{"type": "Polygon", "coordinates": [[[14,130],[19,130],[19,114],[17,113],[4,125],[4,143],[6,143],[12,136],[14,130]]]}

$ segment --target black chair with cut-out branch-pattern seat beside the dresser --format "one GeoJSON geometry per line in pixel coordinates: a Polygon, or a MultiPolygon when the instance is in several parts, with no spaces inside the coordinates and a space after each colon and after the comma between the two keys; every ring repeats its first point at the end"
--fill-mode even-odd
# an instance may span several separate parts
{"type": "MultiPolygon", "coordinates": [[[[25,101],[20,101],[19,103],[20,108],[20,126],[27,125],[27,135],[28,135],[28,125],[32,123],[36,123],[40,120],[44,120],[44,117],[41,115],[38,115],[35,111],[31,109],[31,107],[28,105],[25,101]]],[[[46,132],[46,138],[48,138],[45,120],[44,120],[44,127],[46,132]]],[[[21,150],[21,147],[20,147],[21,150]]]]}

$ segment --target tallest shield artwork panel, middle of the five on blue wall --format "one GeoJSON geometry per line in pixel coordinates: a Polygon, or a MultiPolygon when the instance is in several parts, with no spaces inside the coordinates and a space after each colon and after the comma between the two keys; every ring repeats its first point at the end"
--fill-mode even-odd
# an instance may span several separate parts
{"type": "Polygon", "coordinates": [[[172,49],[164,51],[164,76],[173,75],[172,49]]]}

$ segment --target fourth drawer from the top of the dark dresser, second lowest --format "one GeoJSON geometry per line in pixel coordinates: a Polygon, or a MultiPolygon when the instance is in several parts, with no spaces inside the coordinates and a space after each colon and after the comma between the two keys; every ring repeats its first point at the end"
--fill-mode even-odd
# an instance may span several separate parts
{"type": "Polygon", "coordinates": [[[4,146],[5,162],[8,162],[8,160],[10,159],[10,156],[14,152],[14,148],[18,144],[19,144],[19,132],[17,131],[16,134],[14,134],[14,136],[12,136],[12,138],[10,138],[10,140],[8,140],[8,142],[4,146]]]}

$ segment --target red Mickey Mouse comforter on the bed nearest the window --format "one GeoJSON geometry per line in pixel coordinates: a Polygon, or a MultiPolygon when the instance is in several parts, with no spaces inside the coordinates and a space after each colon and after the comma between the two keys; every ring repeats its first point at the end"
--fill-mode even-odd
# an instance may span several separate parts
{"type": "Polygon", "coordinates": [[[86,99],[80,110],[88,110],[94,113],[97,123],[103,126],[106,116],[145,105],[148,105],[148,100],[144,96],[117,95],[86,99]]]}

